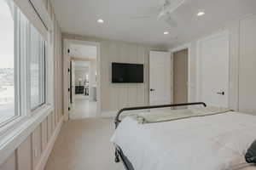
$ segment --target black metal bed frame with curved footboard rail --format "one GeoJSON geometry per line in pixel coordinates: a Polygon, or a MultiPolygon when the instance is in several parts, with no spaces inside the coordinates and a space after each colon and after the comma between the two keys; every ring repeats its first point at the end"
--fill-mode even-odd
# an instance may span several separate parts
{"type": "MultiPolygon", "coordinates": [[[[119,126],[119,123],[121,122],[121,120],[119,119],[119,116],[123,111],[147,110],[147,109],[178,107],[178,106],[186,106],[186,105],[203,105],[204,107],[207,106],[204,102],[195,102],[195,103],[181,103],[181,104],[172,104],[172,105],[148,105],[148,106],[140,106],[140,107],[126,107],[121,109],[118,112],[117,116],[115,117],[114,119],[115,128],[117,128],[119,126]]],[[[125,166],[125,170],[134,170],[134,167],[132,166],[131,161],[129,161],[129,159],[124,155],[122,149],[118,145],[115,145],[114,155],[115,155],[114,161],[119,162],[119,158],[120,158],[125,166]]]]}

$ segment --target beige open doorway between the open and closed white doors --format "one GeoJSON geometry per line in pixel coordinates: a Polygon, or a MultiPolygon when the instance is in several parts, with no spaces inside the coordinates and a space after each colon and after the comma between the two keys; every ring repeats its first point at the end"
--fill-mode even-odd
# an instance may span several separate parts
{"type": "Polygon", "coordinates": [[[173,103],[188,103],[188,48],[174,52],[173,103]]]}

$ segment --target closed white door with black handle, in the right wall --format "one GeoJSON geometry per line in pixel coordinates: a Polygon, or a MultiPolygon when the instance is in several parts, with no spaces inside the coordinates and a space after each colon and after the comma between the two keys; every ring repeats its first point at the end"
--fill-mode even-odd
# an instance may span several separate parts
{"type": "Polygon", "coordinates": [[[227,31],[199,42],[199,92],[207,105],[229,105],[229,34],[227,31]]]}

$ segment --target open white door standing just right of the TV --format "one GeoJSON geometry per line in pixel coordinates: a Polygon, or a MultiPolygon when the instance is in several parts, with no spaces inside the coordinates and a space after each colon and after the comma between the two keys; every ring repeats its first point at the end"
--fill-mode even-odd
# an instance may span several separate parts
{"type": "Polygon", "coordinates": [[[149,104],[171,104],[171,54],[150,51],[149,104]]]}

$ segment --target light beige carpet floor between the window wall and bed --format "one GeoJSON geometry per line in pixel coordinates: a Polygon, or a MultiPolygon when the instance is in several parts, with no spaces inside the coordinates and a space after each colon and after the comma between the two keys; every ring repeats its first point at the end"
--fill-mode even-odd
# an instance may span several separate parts
{"type": "Polygon", "coordinates": [[[44,170],[124,170],[114,162],[113,131],[113,119],[65,122],[44,170]]]}

